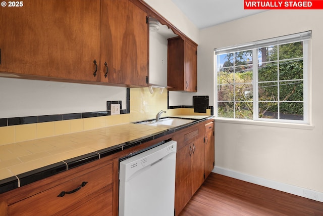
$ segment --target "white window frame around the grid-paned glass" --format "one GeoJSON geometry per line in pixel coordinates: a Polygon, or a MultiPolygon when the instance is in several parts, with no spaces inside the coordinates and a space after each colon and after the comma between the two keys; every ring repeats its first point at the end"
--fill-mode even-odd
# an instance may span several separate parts
{"type": "Polygon", "coordinates": [[[260,122],[263,124],[265,122],[273,122],[275,125],[281,123],[296,124],[296,125],[310,125],[310,113],[309,113],[309,40],[311,38],[311,31],[285,35],[276,38],[270,38],[265,40],[259,40],[251,42],[248,44],[230,46],[220,49],[214,49],[214,99],[215,99],[215,111],[216,111],[216,120],[222,121],[234,121],[239,123],[248,122],[248,124],[253,124],[255,122],[260,122]],[[303,41],[303,120],[290,120],[290,119],[270,119],[270,118],[259,118],[258,117],[258,54],[257,49],[261,47],[267,47],[271,45],[282,45],[288,44],[291,42],[303,41]],[[241,118],[225,118],[218,117],[218,71],[217,71],[217,54],[227,54],[232,52],[252,50],[253,58],[253,119],[241,119],[241,118]],[[256,60],[256,61],[255,61],[256,60]]]}

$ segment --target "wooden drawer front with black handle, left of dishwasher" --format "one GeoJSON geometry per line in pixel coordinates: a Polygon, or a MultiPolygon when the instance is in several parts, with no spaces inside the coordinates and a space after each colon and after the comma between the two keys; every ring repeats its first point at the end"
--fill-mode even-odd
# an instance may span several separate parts
{"type": "MultiPolygon", "coordinates": [[[[111,163],[9,205],[8,215],[53,215],[58,212],[66,214],[73,208],[78,208],[78,210],[84,208],[83,212],[86,215],[86,208],[90,206],[88,204],[79,206],[80,203],[91,203],[88,200],[94,199],[95,196],[101,194],[99,192],[104,187],[108,187],[107,190],[110,188],[110,191],[112,191],[112,183],[113,164],[111,163]],[[81,187],[83,182],[87,183],[81,187]],[[65,193],[62,197],[58,196],[63,191],[70,192],[73,190],[75,191],[74,193],[65,193]],[[65,209],[66,212],[64,213],[65,209]]],[[[101,194],[101,196],[105,197],[109,195],[112,196],[112,192],[101,194]]],[[[112,198],[106,197],[106,200],[109,199],[111,200],[112,198]]],[[[92,205],[91,207],[94,206],[92,205]]]]}

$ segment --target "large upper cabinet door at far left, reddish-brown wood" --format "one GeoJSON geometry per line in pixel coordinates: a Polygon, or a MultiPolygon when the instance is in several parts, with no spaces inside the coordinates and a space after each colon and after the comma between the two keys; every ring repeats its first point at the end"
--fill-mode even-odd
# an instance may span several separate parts
{"type": "Polygon", "coordinates": [[[1,7],[0,71],[96,81],[100,1],[29,0],[1,7]]]}

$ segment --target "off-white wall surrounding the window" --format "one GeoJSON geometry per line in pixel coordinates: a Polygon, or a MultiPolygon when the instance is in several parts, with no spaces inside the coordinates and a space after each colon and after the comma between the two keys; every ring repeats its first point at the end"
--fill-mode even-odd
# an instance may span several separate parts
{"type": "Polygon", "coordinates": [[[319,10],[272,10],[200,30],[200,93],[213,93],[213,50],[254,40],[312,30],[311,115],[307,129],[219,122],[216,120],[216,167],[323,192],[323,13],[319,10]]]}

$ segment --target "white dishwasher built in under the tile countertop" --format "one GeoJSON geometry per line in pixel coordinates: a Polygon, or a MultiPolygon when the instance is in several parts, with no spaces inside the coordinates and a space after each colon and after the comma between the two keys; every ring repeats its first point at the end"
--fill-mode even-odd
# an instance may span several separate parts
{"type": "Polygon", "coordinates": [[[177,143],[159,144],[120,161],[119,216],[174,215],[177,143]]]}

